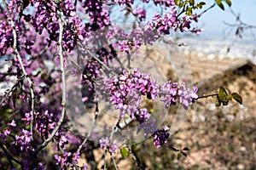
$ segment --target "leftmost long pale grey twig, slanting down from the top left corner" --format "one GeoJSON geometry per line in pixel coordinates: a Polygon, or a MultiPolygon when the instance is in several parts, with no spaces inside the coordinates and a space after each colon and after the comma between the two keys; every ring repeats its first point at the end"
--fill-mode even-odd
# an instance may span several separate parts
{"type": "MultiPolygon", "coordinates": [[[[12,31],[13,31],[13,35],[14,35],[14,51],[15,51],[15,57],[18,58],[19,63],[20,63],[20,67],[21,67],[21,71],[23,73],[23,75],[26,77],[26,80],[29,84],[29,89],[30,89],[30,93],[31,93],[31,99],[32,99],[32,103],[31,103],[31,109],[32,109],[32,115],[31,115],[31,122],[30,122],[30,131],[33,134],[33,122],[34,122],[34,113],[35,113],[35,94],[33,92],[33,82],[31,80],[31,78],[28,76],[28,74],[26,73],[25,67],[23,65],[22,59],[20,57],[19,51],[18,51],[18,47],[17,47],[17,39],[18,39],[18,35],[17,35],[17,31],[15,30],[15,22],[11,16],[11,14],[9,13],[8,7],[7,7],[7,3],[5,2],[5,0],[3,0],[3,6],[7,12],[7,14],[9,15],[9,21],[11,22],[11,26],[12,26],[12,31]]],[[[33,135],[31,135],[31,139],[33,140],[33,135]]]]}

